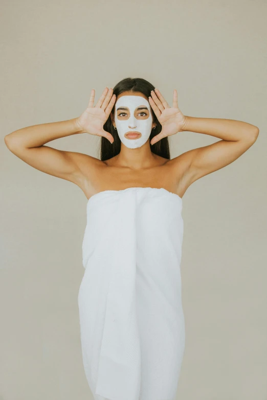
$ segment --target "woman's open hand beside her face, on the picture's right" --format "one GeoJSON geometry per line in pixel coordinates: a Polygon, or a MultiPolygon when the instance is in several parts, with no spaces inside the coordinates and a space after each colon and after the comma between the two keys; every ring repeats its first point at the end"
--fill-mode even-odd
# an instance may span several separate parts
{"type": "Polygon", "coordinates": [[[187,116],[185,116],[178,107],[177,90],[173,90],[173,105],[170,107],[159,89],[151,91],[151,96],[148,98],[149,104],[157,116],[162,130],[158,135],[155,135],[150,144],[154,145],[160,139],[166,136],[174,135],[181,132],[187,124],[187,116]]]}

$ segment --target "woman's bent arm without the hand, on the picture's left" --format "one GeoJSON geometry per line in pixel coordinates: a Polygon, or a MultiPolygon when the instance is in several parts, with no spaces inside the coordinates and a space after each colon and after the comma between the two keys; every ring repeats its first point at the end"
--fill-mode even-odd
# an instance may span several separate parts
{"type": "Polygon", "coordinates": [[[44,144],[81,132],[82,129],[74,118],[18,129],[5,136],[5,143],[13,154],[37,170],[78,183],[82,175],[82,160],[93,160],[94,157],[57,150],[44,144]]]}

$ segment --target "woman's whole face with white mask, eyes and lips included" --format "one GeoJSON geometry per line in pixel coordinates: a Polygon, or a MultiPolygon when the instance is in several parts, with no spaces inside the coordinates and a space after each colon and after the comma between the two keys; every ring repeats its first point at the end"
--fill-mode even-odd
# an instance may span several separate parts
{"type": "Polygon", "coordinates": [[[125,91],[117,97],[114,126],[121,142],[129,149],[143,146],[151,133],[151,107],[141,92],[125,91]]]}

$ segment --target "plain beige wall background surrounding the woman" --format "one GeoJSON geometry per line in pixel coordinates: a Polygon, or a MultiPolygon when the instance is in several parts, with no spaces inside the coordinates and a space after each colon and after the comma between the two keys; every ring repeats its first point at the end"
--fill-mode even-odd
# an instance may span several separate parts
{"type": "MultiPolygon", "coordinates": [[[[179,400],[266,400],[264,1],[2,0],[1,400],[90,399],[77,295],[86,198],[14,156],[4,135],[68,120],[126,77],[186,115],[259,127],[256,143],[183,197],[186,350],[179,400]]],[[[183,132],[171,157],[217,139],[183,132]]],[[[99,138],[50,145],[97,156],[99,138]]],[[[125,399],[127,400],[127,399],[125,399]]],[[[156,400],[156,399],[155,399],[156,400]]]]}

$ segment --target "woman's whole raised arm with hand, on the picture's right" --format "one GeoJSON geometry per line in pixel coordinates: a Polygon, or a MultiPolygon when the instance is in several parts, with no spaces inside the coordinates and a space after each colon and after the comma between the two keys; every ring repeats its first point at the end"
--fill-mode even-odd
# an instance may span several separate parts
{"type": "Polygon", "coordinates": [[[162,125],[162,131],[151,139],[151,144],[183,131],[204,133],[221,139],[170,160],[177,182],[181,180],[182,171],[184,191],[195,180],[226,167],[240,157],[255,143],[259,134],[259,128],[247,122],[185,116],[178,107],[176,89],[173,91],[172,107],[158,89],[151,91],[149,103],[162,125]]]}

